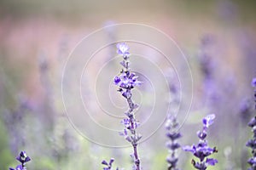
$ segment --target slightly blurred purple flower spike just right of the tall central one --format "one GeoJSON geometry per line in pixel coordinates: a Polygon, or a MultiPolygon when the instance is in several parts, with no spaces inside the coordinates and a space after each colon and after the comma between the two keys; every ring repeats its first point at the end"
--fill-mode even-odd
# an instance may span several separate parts
{"type": "Polygon", "coordinates": [[[166,161],[168,162],[168,170],[178,170],[177,168],[177,156],[176,150],[180,148],[180,144],[177,143],[177,139],[181,138],[182,135],[177,132],[178,122],[175,116],[167,117],[166,121],[166,137],[170,139],[166,142],[166,146],[170,152],[167,156],[166,161]]]}

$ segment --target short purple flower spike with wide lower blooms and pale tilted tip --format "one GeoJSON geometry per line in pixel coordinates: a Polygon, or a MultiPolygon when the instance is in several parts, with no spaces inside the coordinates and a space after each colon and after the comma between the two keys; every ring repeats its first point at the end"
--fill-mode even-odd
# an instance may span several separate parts
{"type": "Polygon", "coordinates": [[[215,115],[208,115],[205,118],[203,118],[203,128],[201,131],[198,131],[197,136],[199,138],[198,144],[193,144],[192,146],[184,146],[183,150],[192,152],[195,157],[197,157],[200,161],[195,161],[194,159],[191,161],[193,166],[196,169],[205,170],[208,166],[214,166],[216,163],[218,163],[218,160],[214,158],[208,158],[208,156],[211,156],[213,153],[218,152],[216,150],[216,147],[209,147],[207,144],[207,128],[212,125],[213,119],[215,118],[215,115]]]}

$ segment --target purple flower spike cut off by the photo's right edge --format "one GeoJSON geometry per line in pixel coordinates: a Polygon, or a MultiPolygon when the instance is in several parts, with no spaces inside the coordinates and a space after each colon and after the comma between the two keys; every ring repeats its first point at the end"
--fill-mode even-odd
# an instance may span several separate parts
{"type": "MultiPolygon", "coordinates": [[[[254,89],[254,100],[256,102],[256,78],[253,78],[252,81],[252,86],[254,89]]],[[[256,105],[255,105],[255,109],[256,109],[256,105]]],[[[248,122],[248,126],[252,127],[252,131],[253,131],[253,139],[249,139],[247,141],[246,146],[252,149],[252,154],[253,157],[248,159],[248,163],[250,164],[250,168],[248,168],[248,170],[253,170],[256,169],[256,116],[254,116],[250,122],[248,122]]]]}

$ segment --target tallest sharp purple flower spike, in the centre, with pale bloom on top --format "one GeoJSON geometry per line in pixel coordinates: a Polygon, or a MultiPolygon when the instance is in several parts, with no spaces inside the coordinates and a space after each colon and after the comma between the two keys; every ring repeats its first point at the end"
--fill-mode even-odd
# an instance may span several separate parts
{"type": "Polygon", "coordinates": [[[121,54],[123,57],[123,60],[120,62],[120,65],[123,66],[123,69],[120,71],[119,76],[113,78],[113,83],[119,86],[119,93],[122,94],[129,105],[129,110],[125,112],[127,117],[121,121],[125,128],[123,132],[119,134],[124,136],[125,139],[133,146],[133,154],[131,154],[131,157],[134,161],[133,169],[140,170],[137,143],[142,138],[142,135],[136,132],[136,129],[139,126],[139,122],[135,118],[134,111],[137,109],[138,105],[135,104],[131,99],[131,90],[137,86],[140,86],[142,82],[138,81],[136,74],[131,71],[129,47],[125,42],[117,44],[117,53],[121,54]]]}

